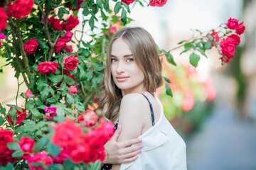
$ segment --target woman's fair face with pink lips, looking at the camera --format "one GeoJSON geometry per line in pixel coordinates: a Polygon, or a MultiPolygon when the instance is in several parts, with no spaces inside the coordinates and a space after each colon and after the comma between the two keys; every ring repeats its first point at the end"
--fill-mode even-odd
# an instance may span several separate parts
{"type": "Polygon", "coordinates": [[[134,61],[127,43],[118,38],[112,45],[111,74],[114,84],[122,91],[122,96],[130,93],[142,93],[144,74],[134,61]]]}

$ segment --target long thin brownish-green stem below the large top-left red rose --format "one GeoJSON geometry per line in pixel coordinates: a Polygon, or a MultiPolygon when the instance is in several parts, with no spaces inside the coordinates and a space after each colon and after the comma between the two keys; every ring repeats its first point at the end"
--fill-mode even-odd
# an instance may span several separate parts
{"type": "Polygon", "coordinates": [[[21,30],[20,30],[20,26],[19,26],[19,20],[17,20],[17,23],[16,23],[16,33],[17,33],[17,38],[18,38],[18,45],[20,47],[20,50],[21,50],[21,55],[23,57],[23,63],[25,65],[25,69],[26,69],[26,74],[28,75],[28,80],[30,79],[31,77],[31,72],[30,72],[30,68],[29,68],[29,64],[28,64],[28,57],[26,55],[26,52],[24,50],[24,47],[23,47],[23,42],[22,42],[22,39],[21,39],[21,30]]]}

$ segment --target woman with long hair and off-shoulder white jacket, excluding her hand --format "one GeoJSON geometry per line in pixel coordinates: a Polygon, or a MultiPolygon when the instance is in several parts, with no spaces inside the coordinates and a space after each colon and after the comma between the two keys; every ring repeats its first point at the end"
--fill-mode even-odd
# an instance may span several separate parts
{"type": "Polygon", "coordinates": [[[102,169],[186,169],[186,145],[154,94],[162,81],[152,36],[143,28],[119,30],[107,53],[100,108],[105,118],[122,125],[117,142],[142,139],[142,151],[133,162],[102,169]]]}

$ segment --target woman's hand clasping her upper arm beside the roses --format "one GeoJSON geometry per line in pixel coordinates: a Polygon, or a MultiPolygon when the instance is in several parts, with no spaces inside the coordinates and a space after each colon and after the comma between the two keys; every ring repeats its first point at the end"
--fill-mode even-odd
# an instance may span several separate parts
{"type": "Polygon", "coordinates": [[[104,161],[105,164],[124,164],[133,162],[142,151],[142,140],[139,138],[117,142],[121,129],[121,125],[118,125],[114,135],[105,144],[107,152],[107,157],[104,161]]]}

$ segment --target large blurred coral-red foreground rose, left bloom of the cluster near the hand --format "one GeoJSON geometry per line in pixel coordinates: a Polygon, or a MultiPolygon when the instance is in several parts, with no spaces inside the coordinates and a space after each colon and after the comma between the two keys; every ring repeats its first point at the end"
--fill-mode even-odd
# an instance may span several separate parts
{"type": "Polygon", "coordinates": [[[65,120],[58,123],[54,128],[52,141],[59,147],[77,145],[82,138],[82,128],[76,125],[73,120],[65,120]]]}

